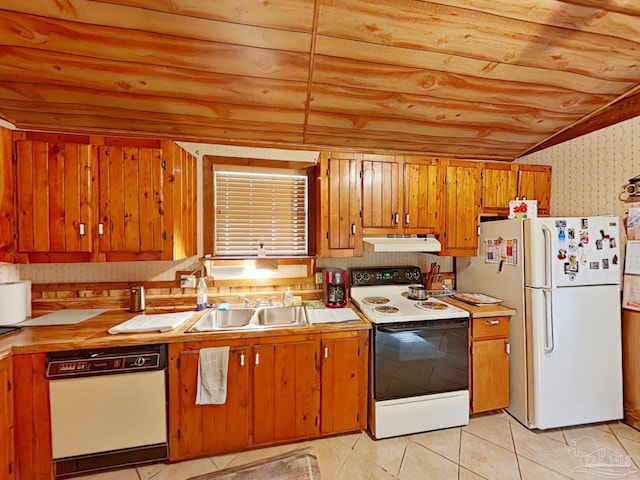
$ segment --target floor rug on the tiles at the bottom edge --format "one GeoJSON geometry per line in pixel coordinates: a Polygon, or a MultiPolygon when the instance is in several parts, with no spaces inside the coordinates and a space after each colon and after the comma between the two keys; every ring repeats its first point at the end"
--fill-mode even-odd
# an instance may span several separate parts
{"type": "Polygon", "coordinates": [[[225,468],[188,480],[319,480],[313,449],[300,448],[256,462],[225,468]]]}

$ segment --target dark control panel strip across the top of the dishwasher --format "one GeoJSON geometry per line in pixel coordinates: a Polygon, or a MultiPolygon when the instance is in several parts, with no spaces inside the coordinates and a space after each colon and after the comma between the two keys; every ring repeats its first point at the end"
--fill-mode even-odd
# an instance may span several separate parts
{"type": "Polygon", "coordinates": [[[85,375],[131,373],[166,368],[164,345],[146,348],[107,348],[56,352],[47,355],[46,377],[65,378],[85,375]]]}

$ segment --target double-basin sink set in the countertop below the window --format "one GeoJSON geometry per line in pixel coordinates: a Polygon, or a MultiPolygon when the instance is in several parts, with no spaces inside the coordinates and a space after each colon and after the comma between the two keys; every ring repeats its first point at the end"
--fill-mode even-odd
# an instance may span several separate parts
{"type": "Polygon", "coordinates": [[[272,329],[301,327],[307,324],[306,312],[304,307],[300,306],[235,307],[227,310],[210,310],[187,332],[272,329]]]}

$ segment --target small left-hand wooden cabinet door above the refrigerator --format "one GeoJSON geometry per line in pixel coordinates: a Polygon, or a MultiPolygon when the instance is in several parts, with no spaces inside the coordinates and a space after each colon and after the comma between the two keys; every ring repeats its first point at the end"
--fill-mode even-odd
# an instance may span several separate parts
{"type": "Polygon", "coordinates": [[[485,163],[482,171],[482,211],[508,215],[509,201],[517,196],[517,166],[505,163],[485,163]]]}

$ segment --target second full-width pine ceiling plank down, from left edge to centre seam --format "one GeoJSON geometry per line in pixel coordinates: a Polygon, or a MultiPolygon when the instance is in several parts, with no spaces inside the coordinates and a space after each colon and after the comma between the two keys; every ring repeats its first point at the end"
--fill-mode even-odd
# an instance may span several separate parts
{"type": "MultiPolygon", "coordinates": [[[[188,98],[190,102],[242,103],[304,108],[306,82],[265,79],[179,68],[83,58],[22,47],[0,46],[0,78],[131,94],[130,101],[152,97],[188,98]],[[144,97],[142,97],[144,96],[144,97]]],[[[133,106],[133,105],[132,105],[133,106]]]]}

